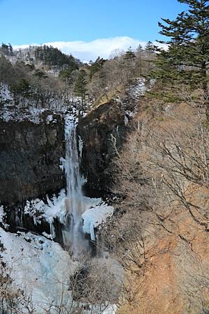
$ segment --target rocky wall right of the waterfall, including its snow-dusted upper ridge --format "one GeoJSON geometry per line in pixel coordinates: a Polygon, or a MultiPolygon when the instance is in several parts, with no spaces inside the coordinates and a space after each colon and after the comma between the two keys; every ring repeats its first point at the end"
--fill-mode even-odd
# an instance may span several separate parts
{"type": "Polygon", "coordinates": [[[81,170],[86,178],[84,192],[97,197],[111,191],[111,160],[122,149],[130,121],[139,110],[139,100],[153,87],[153,80],[139,77],[111,100],[95,105],[79,119],[77,133],[82,140],[81,170]]]}

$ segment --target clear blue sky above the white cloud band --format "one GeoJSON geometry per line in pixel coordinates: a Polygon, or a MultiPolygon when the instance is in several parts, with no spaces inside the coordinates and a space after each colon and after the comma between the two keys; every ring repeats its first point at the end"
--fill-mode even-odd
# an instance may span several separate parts
{"type": "Polygon", "coordinates": [[[154,41],[160,38],[160,17],[173,18],[184,9],[177,0],[0,0],[0,40],[12,45],[121,36],[154,41]]]}

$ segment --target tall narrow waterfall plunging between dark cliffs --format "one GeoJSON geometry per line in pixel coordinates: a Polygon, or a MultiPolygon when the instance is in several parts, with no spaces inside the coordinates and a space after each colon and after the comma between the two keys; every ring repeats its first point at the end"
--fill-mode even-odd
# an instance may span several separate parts
{"type": "Polygon", "coordinates": [[[65,175],[67,180],[67,197],[65,208],[67,219],[63,229],[63,241],[72,255],[79,257],[88,251],[88,240],[82,229],[84,213],[84,196],[82,177],[79,171],[79,153],[77,148],[76,125],[65,125],[65,175]]]}

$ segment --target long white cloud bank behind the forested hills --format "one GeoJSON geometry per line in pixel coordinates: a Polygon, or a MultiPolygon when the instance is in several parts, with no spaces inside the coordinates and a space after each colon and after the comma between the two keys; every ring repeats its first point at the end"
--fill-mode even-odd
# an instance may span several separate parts
{"type": "MultiPolygon", "coordinates": [[[[42,43],[42,45],[52,45],[59,48],[65,54],[72,54],[82,61],[95,60],[97,57],[109,58],[114,50],[127,50],[128,47],[137,48],[146,45],[146,42],[127,36],[100,38],[92,41],[54,41],[42,43]]],[[[40,44],[31,44],[40,45],[40,44]]],[[[26,48],[29,45],[14,45],[15,49],[26,48]]]]}

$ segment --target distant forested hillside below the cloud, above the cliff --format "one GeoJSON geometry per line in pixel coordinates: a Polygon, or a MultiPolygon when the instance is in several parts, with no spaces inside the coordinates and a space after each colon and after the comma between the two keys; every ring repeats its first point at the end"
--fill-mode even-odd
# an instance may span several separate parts
{"type": "Polygon", "coordinates": [[[138,77],[153,69],[155,47],[152,43],[136,51],[115,52],[110,60],[100,57],[93,62],[81,61],[47,47],[29,47],[14,51],[9,44],[0,48],[0,80],[7,84],[15,99],[36,100],[36,106],[49,108],[53,97],[107,101],[125,91],[138,77]]]}

